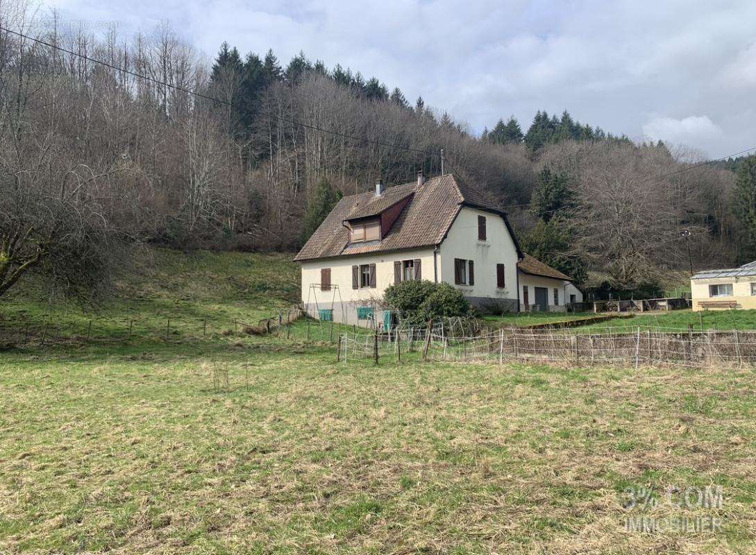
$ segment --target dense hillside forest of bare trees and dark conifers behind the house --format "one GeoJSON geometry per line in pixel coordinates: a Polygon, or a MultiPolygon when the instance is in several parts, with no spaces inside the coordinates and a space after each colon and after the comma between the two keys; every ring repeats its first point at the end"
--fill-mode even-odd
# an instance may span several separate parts
{"type": "Polygon", "coordinates": [[[685,171],[695,152],[566,110],[478,135],[304,53],[224,44],[206,63],[169,26],[95,39],[35,13],[0,14],[26,35],[0,31],[0,295],[26,271],[94,294],[146,243],[293,251],[339,196],[439,174],[442,150],[526,251],[589,288],[653,287],[688,248],[696,268],[756,255],[753,159],[685,171]]]}

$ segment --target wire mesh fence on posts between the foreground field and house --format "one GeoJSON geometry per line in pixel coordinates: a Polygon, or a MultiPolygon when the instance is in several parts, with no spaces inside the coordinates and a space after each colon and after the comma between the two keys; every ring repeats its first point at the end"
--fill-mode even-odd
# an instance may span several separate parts
{"type": "Polygon", "coordinates": [[[341,362],[401,361],[407,353],[443,362],[532,362],[556,365],[640,365],[684,368],[756,368],[756,331],[633,330],[602,333],[500,329],[451,335],[440,325],[389,334],[346,332],[339,337],[341,362]]]}

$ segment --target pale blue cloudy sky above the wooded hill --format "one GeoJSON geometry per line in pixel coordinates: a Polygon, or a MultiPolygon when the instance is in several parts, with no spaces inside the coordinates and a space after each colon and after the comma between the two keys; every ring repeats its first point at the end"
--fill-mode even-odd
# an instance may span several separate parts
{"type": "Polygon", "coordinates": [[[300,50],[377,76],[472,131],[537,109],[720,157],[756,146],[754,0],[49,0],[129,37],[168,21],[211,59],[300,50]]]}

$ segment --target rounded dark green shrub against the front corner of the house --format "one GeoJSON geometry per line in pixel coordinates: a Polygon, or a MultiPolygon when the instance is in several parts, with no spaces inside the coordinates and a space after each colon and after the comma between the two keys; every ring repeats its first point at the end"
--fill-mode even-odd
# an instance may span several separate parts
{"type": "Polygon", "coordinates": [[[430,319],[472,315],[472,307],[462,291],[448,283],[397,283],[386,289],[383,300],[401,314],[402,322],[411,325],[423,325],[430,319]]]}

